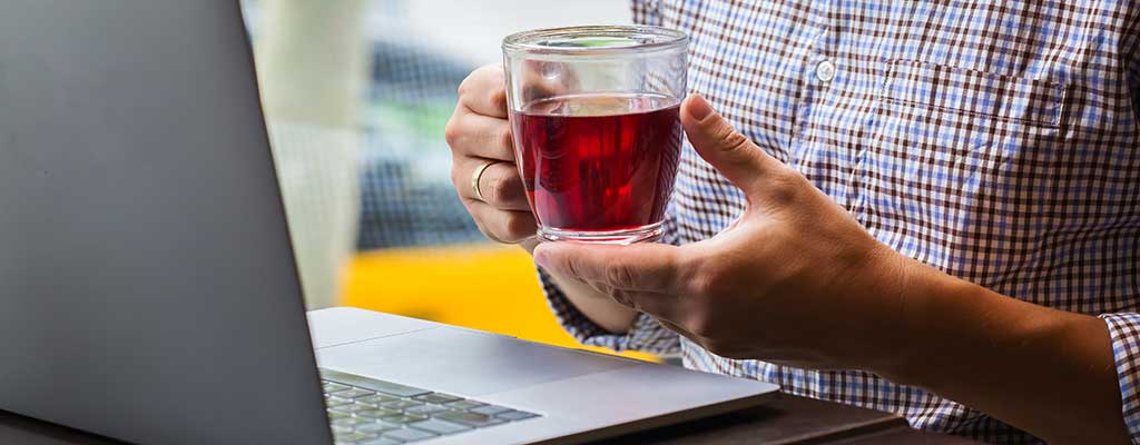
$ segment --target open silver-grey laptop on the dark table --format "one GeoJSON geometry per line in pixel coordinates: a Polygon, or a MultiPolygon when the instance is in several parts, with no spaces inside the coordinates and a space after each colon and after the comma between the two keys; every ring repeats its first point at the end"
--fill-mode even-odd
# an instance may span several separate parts
{"type": "Polygon", "coordinates": [[[140,444],[580,443],[777,394],[306,313],[237,1],[9,0],[0,42],[2,410],[140,444]]]}

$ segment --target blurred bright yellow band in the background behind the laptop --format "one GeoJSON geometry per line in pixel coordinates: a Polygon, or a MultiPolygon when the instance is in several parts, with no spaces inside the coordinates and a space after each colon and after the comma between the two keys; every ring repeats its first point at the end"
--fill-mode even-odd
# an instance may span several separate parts
{"type": "MultiPolygon", "coordinates": [[[[513,246],[464,245],[384,249],[357,255],[348,267],[342,304],[587,348],[554,319],[530,256],[513,246]]],[[[624,353],[657,360],[641,353],[624,353]]]]}

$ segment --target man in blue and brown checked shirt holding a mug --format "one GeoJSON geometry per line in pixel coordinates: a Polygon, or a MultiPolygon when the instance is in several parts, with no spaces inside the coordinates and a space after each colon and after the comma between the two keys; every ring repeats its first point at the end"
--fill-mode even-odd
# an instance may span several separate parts
{"type": "Polygon", "coordinates": [[[665,242],[535,246],[500,68],[448,124],[571,333],[987,442],[1140,443],[1140,5],[634,16],[692,38],[665,242]]]}

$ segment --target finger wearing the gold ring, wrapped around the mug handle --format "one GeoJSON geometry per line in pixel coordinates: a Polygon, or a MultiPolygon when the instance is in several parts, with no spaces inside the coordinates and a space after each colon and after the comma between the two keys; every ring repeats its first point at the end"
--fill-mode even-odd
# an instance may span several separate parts
{"type": "Polygon", "coordinates": [[[484,168],[479,175],[479,192],[482,195],[482,199],[475,195],[475,190],[471,187],[471,178],[477,168],[492,160],[456,158],[455,165],[451,167],[451,182],[459,197],[464,200],[481,201],[500,211],[530,212],[522,178],[519,176],[519,168],[512,163],[496,162],[484,168]]]}

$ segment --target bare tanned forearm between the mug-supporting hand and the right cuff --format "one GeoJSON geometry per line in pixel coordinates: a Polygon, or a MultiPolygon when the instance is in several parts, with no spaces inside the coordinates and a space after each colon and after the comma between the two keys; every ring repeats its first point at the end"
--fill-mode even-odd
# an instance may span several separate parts
{"type": "Polygon", "coordinates": [[[880,373],[1050,443],[1129,443],[1105,323],[921,266],[906,283],[906,360],[880,373]]]}

